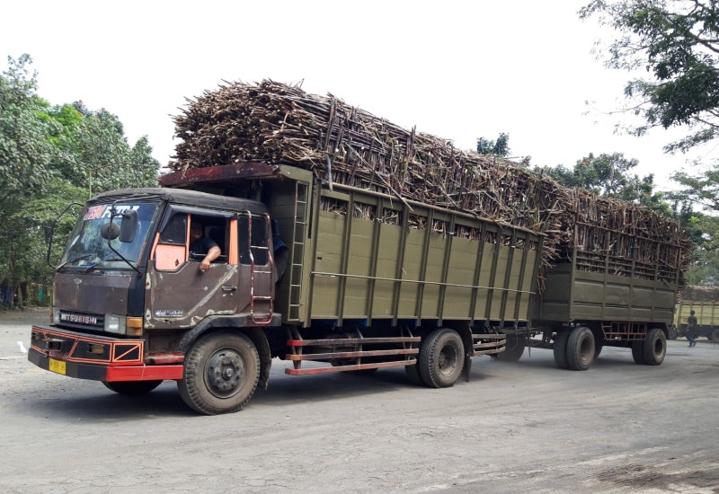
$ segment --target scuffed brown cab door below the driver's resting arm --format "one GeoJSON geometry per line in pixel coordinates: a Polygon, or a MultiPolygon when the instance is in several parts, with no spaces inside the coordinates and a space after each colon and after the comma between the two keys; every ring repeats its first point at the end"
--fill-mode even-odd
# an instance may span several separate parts
{"type": "Polygon", "coordinates": [[[232,213],[169,208],[147,268],[145,320],[149,327],[187,328],[209,315],[237,312],[236,230],[232,213]],[[207,271],[200,269],[204,254],[191,251],[192,223],[200,223],[203,234],[221,251],[207,271]]]}

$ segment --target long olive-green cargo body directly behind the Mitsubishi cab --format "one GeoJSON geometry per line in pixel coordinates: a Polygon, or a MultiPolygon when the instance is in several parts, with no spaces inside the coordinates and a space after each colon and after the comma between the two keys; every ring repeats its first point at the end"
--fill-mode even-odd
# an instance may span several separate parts
{"type": "Polygon", "coordinates": [[[263,186],[290,251],[283,322],[528,322],[537,234],[288,172],[263,186]]]}

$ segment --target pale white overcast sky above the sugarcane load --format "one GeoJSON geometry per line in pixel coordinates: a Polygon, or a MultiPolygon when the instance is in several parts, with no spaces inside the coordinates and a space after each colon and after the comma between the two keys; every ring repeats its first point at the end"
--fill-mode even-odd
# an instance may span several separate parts
{"type": "Polygon", "coordinates": [[[669,189],[688,156],[661,146],[679,134],[617,136],[619,117],[586,114],[585,101],[617,109],[630,75],[591,53],[611,32],[579,20],[584,3],[23,0],[3,6],[0,52],[30,54],[41,97],[111,111],[129,144],[146,135],[163,164],[186,98],[223,80],[267,78],[302,81],[308,93],[332,93],[461,149],[507,132],[511,154],[536,165],[624,153],[669,189]]]}

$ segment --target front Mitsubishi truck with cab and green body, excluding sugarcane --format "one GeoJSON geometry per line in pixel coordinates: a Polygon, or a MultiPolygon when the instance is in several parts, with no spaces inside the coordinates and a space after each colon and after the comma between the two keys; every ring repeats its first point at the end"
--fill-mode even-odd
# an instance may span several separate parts
{"type": "MultiPolygon", "coordinates": [[[[432,388],[525,334],[543,237],[319,180],[287,165],[173,172],[87,202],[29,360],[117,393],[178,384],[193,410],[240,410],[288,375],[404,366],[432,388]],[[201,225],[221,254],[202,269],[201,225]]],[[[348,382],[350,383],[350,382],[348,382]]]]}

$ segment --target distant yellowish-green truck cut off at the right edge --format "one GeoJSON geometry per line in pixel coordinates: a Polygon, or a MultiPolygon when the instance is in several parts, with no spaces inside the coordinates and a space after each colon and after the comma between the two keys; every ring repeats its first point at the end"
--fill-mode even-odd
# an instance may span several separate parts
{"type": "Polygon", "coordinates": [[[697,317],[695,335],[719,341],[719,287],[688,286],[681,290],[675,312],[674,338],[687,336],[687,318],[691,311],[697,317]]]}

